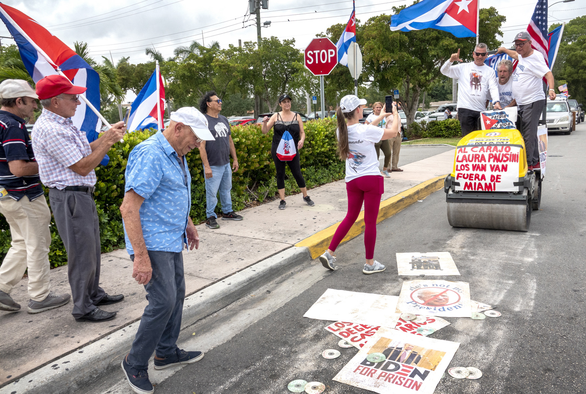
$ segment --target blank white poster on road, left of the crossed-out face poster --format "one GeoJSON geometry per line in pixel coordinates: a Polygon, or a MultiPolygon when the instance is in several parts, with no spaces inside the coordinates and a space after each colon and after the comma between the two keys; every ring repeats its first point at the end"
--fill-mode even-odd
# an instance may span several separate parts
{"type": "Polygon", "coordinates": [[[397,300],[397,296],[328,288],[303,317],[393,328],[399,318],[397,300]]]}

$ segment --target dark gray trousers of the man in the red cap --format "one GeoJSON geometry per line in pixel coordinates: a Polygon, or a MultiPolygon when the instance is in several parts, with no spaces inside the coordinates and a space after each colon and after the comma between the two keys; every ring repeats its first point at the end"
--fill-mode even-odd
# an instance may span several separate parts
{"type": "Polygon", "coordinates": [[[100,287],[100,225],[90,192],[49,189],[59,236],[67,251],[74,318],[90,313],[104,297],[100,287]]]}

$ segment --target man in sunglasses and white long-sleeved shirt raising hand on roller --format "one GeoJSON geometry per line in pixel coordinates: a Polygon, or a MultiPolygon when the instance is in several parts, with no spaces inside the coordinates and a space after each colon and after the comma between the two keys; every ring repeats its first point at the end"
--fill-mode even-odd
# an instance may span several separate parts
{"type": "MultiPolygon", "coordinates": [[[[442,74],[459,80],[458,119],[462,128],[462,137],[471,131],[479,130],[478,120],[480,113],[486,111],[487,93],[490,93],[490,97],[499,97],[495,70],[484,64],[486,55],[488,55],[486,44],[479,43],[472,52],[473,62],[452,66],[454,62],[462,62],[458,49],[458,52],[453,53],[441,67],[442,74]]],[[[502,109],[499,100],[496,100],[493,105],[497,110],[502,109]]]]}

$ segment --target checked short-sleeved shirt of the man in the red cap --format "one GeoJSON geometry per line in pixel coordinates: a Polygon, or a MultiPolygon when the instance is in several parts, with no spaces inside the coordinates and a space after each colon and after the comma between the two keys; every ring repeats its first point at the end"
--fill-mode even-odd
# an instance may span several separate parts
{"type": "Polygon", "coordinates": [[[33,149],[39,162],[40,180],[49,188],[63,190],[66,186],[93,186],[96,171],[86,176],[69,169],[91,154],[86,133],[77,130],[69,118],[59,116],[46,108],[33,127],[33,149]]]}

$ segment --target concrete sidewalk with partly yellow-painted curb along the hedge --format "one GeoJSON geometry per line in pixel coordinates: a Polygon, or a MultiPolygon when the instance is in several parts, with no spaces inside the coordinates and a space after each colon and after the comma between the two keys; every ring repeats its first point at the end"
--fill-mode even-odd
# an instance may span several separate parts
{"type": "MultiPolygon", "coordinates": [[[[406,156],[407,151],[404,150],[406,156]]],[[[425,187],[430,190],[435,188],[429,193],[440,188],[443,182],[438,177],[451,172],[453,158],[454,151],[449,149],[442,154],[401,165],[404,172],[393,172],[391,178],[385,179],[382,197],[385,202],[381,205],[381,215],[391,216],[416,201],[421,189],[418,185],[427,185],[425,187]],[[383,206],[387,208],[383,210],[383,206]]],[[[315,258],[315,250],[318,249],[314,246],[312,250],[303,242],[312,239],[315,244],[316,238],[320,238],[318,241],[322,243],[327,242],[327,234],[344,218],[347,200],[345,182],[342,180],[320,186],[312,189],[310,195],[316,203],[313,207],[307,206],[301,195],[295,195],[286,198],[287,209],[284,211],[279,210],[279,202],[274,201],[240,212],[245,218],[241,222],[219,220],[221,227],[217,230],[207,229],[205,225],[197,226],[200,249],[184,252],[184,264],[186,294],[199,292],[199,297],[193,296],[189,302],[186,301],[185,308],[192,308],[192,312],[190,320],[186,320],[184,309],[184,326],[235,301],[241,292],[251,291],[248,290],[250,286],[254,286],[255,281],[260,283],[265,274],[267,277],[277,275],[278,267],[306,261],[309,257],[307,248],[315,258]],[[301,247],[294,247],[296,244],[301,247]],[[207,298],[206,292],[215,295],[207,298]]],[[[360,233],[359,221],[356,228],[353,236],[360,233]]],[[[23,279],[11,293],[16,302],[25,305],[23,310],[19,313],[0,313],[0,328],[5,333],[0,344],[0,386],[5,387],[0,392],[12,392],[16,384],[13,382],[17,379],[21,380],[18,386],[22,389],[25,379],[20,378],[42,367],[43,370],[52,369],[52,373],[64,372],[63,369],[69,371],[74,367],[73,361],[69,368],[66,364],[69,360],[61,364],[52,363],[69,355],[75,356],[79,364],[80,358],[85,356],[84,349],[87,350],[86,355],[91,351],[95,356],[100,349],[105,351],[118,341],[115,351],[127,352],[127,345],[134,337],[132,333],[138,326],[134,323],[147,305],[144,287],[132,279],[131,273],[132,261],[125,250],[102,255],[101,286],[110,294],[122,293],[126,298],[122,303],[103,307],[107,311],[118,311],[118,315],[114,320],[97,324],[74,321],[71,304],[45,313],[27,314],[27,280],[23,279]],[[111,342],[108,342],[110,339],[111,342]],[[93,350],[88,347],[90,344],[93,344],[90,346],[93,350]],[[60,368],[62,371],[58,371],[60,368]]],[[[57,293],[70,293],[67,267],[51,271],[51,284],[52,290],[57,293]]],[[[117,353],[110,356],[116,358],[117,353]]],[[[110,362],[110,359],[104,362],[110,362]]],[[[99,364],[93,363],[96,367],[99,364]]],[[[86,370],[84,373],[93,372],[86,370]]],[[[26,379],[29,377],[26,376],[26,379]]],[[[45,389],[44,392],[50,391],[45,389]]]]}

